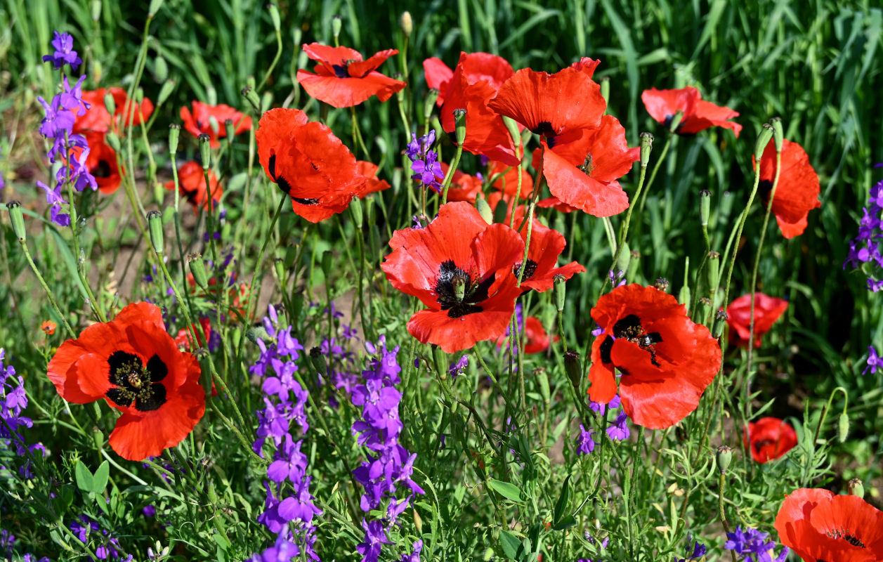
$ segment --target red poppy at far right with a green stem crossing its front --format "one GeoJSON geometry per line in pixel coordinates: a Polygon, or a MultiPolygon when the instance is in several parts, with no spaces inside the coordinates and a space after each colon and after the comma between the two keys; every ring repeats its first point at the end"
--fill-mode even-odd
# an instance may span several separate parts
{"type": "MultiPolygon", "coordinates": [[[[752,158],[753,161],[753,158],[752,158]]],[[[753,163],[753,162],[752,162],[753,163]]],[[[775,143],[770,142],[760,159],[760,194],[766,207],[775,179],[775,143]]],[[[785,140],[781,147],[781,173],[775,188],[773,214],[781,235],[787,239],[806,230],[806,217],[819,202],[819,176],[812,169],[810,157],[796,142],[785,140]]]]}

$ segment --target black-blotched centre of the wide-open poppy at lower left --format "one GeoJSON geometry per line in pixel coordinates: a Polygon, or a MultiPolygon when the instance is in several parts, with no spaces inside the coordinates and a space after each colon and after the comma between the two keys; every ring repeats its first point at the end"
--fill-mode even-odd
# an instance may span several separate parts
{"type": "Polygon", "coordinates": [[[147,361],[141,361],[138,355],[115,351],[108,358],[110,367],[110,388],[106,393],[117,406],[132,406],[140,412],[151,412],[166,403],[166,388],[160,384],[169,368],[162,362],[159,355],[154,354],[147,361]]]}

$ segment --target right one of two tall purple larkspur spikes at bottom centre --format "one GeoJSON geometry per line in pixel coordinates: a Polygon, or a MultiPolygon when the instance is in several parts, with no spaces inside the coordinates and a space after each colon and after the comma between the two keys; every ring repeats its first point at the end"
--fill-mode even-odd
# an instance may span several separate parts
{"type": "MultiPolygon", "coordinates": [[[[352,403],[362,410],[362,419],[352,424],[352,433],[358,435],[358,444],[365,445],[370,453],[368,459],[352,474],[365,488],[359,505],[363,512],[370,513],[387,503],[385,518],[362,520],[365,540],[357,550],[363,562],[376,562],[382,545],[391,544],[387,538],[389,528],[411,505],[413,498],[425,492],[417,482],[411,480],[417,453],[408,452],[398,443],[404,428],[398,414],[402,393],[395,387],[401,383],[399,373],[402,371],[396,361],[398,346],[389,351],[382,336],[376,346],[370,342],[366,342],[365,346],[368,353],[374,356],[362,371],[363,383],[357,384],[352,390],[352,403]],[[408,490],[407,496],[402,499],[397,497],[399,485],[408,490]]],[[[422,542],[414,543],[411,559],[419,559],[421,548],[422,542]]]]}

